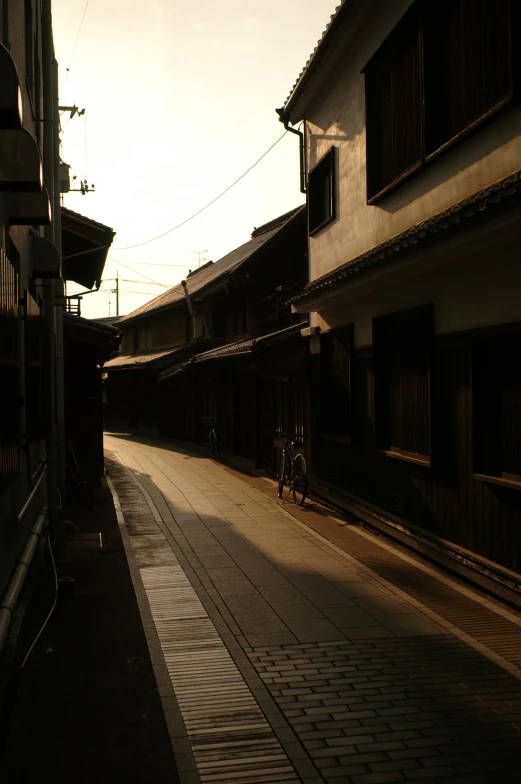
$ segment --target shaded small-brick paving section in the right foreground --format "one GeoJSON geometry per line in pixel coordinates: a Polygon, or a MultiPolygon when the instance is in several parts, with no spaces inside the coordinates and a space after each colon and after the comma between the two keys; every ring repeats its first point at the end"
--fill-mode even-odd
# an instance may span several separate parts
{"type": "Polygon", "coordinates": [[[248,656],[328,784],[520,781],[521,683],[451,636],[248,656]]]}

